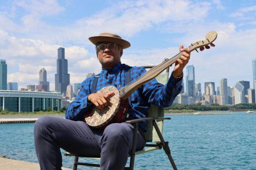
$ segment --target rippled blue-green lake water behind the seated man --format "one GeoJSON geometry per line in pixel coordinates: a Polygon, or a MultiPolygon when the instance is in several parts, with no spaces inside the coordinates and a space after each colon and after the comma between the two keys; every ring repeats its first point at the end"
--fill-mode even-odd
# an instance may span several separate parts
{"type": "MultiPolygon", "coordinates": [[[[163,136],[169,141],[178,170],[256,170],[256,114],[168,117],[172,120],[165,121],[163,136]]],[[[34,123],[0,124],[0,155],[38,163],[33,126],[34,123]]],[[[72,168],[72,165],[73,158],[63,156],[63,166],[72,168]]],[[[164,150],[157,150],[136,156],[134,169],[172,167],[164,150]]]]}

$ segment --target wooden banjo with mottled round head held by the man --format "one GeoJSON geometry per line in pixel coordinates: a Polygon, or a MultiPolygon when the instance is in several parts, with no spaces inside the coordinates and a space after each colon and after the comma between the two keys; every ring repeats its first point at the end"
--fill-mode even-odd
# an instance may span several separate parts
{"type": "MultiPolygon", "coordinates": [[[[206,34],[205,38],[206,40],[197,41],[189,45],[189,50],[191,52],[194,50],[198,52],[197,48],[199,48],[200,51],[203,51],[204,48],[209,49],[210,46],[214,47],[215,45],[212,42],[217,38],[217,33],[215,31],[211,31],[206,34]]],[[[128,97],[141,85],[150,81],[154,77],[157,77],[157,75],[175,63],[177,59],[182,56],[182,53],[183,52],[180,52],[170,59],[165,59],[162,63],[154,66],[145,74],[137,77],[119,90],[114,86],[106,86],[101,88],[96,93],[114,92],[114,94],[110,96],[109,105],[103,110],[100,110],[94,106],[92,109],[90,109],[90,111],[85,113],[85,122],[91,127],[101,129],[104,129],[111,123],[122,122],[127,114],[126,112],[129,109],[128,97]]]]}

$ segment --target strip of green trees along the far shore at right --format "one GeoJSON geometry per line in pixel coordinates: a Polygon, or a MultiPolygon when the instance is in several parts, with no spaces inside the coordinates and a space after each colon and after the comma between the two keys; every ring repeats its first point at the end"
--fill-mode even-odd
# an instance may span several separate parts
{"type": "Polygon", "coordinates": [[[256,110],[256,103],[240,103],[237,105],[202,105],[201,103],[183,105],[172,104],[171,107],[166,108],[168,113],[185,113],[185,112],[197,112],[197,111],[244,111],[244,110],[256,110]]]}

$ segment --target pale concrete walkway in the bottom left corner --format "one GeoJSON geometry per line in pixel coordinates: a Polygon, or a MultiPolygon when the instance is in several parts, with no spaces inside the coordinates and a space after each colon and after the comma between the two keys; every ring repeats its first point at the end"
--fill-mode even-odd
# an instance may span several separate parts
{"type": "MultiPolygon", "coordinates": [[[[0,158],[0,165],[0,170],[40,170],[39,164],[15,159],[0,158]]],[[[71,169],[62,167],[62,170],[71,169]]]]}

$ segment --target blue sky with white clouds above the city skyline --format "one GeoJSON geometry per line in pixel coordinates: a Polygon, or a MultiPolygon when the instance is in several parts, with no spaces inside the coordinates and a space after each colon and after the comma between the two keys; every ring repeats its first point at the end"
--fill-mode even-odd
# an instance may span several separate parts
{"type": "Polygon", "coordinates": [[[128,40],[131,47],[121,62],[141,66],[160,64],[177,54],[180,44],[205,40],[209,31],[218,34],[216,46],[193,51],[188,63],[195,67],[195,82],[202,91],[204,82],[217,87],[223,78],[228,86],[246,80],[253,88],[255,0],[0,0],[0,59],[6,59],[7,82],[17,82],[19,89],[38,85],[45,68],[55,90],[61,40],[74,84],[101,71],[88,40],[101,32],[128,40]]]}

